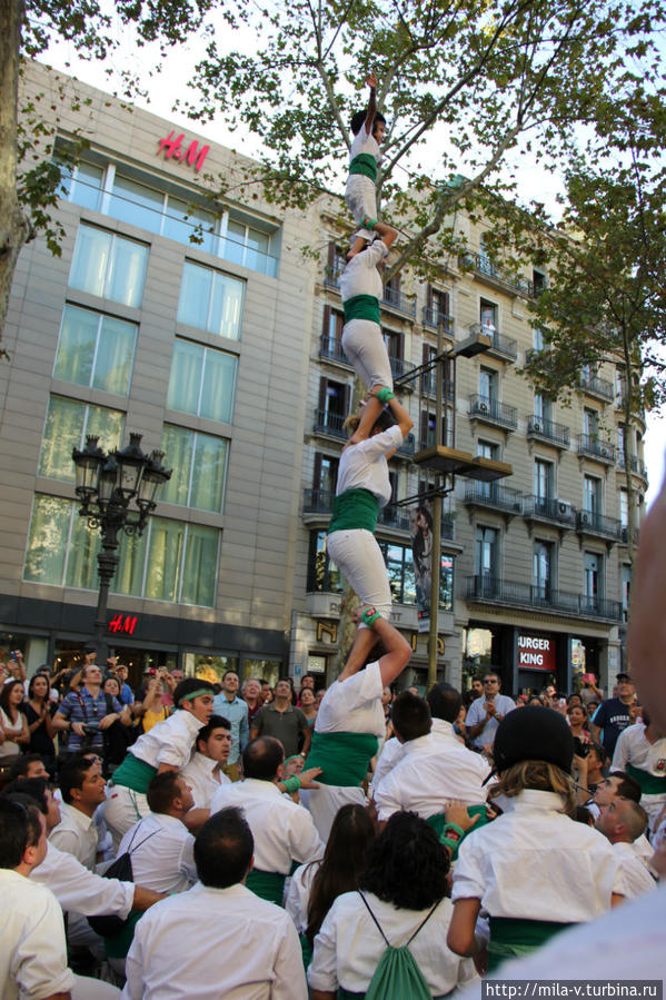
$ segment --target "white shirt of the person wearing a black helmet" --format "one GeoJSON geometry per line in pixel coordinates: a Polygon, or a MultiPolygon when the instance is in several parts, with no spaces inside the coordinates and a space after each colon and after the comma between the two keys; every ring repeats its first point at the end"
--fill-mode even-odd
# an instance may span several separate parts
{"type": "Polygon", "coordinates": [[[603,833],[576,823],[555,792],[526,789],[514,808],[473,830],[458,849],[451,899],[479,899],[490,917],[593,920],[622,894],[623,878],[603,833]]]}

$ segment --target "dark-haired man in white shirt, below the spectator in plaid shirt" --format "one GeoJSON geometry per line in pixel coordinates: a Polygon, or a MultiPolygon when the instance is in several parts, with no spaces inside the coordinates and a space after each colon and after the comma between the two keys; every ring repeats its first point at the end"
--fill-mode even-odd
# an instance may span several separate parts
{"type": "Polygon", "coordinates": [[[99,832],[95,813],[106,801],[99,766],[89,758],[77,755],[60,771],[60,822],[51,830],[49,840],[59,851],[68,851],[89,871],[95,871],[99,832]]]}

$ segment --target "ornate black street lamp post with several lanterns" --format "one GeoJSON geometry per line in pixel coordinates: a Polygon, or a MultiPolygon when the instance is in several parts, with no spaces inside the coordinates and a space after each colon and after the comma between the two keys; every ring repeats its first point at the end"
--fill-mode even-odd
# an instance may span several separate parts
{"type": "Polygon", "coordinates": [[[81,503],[79,514],[90,527],[101,533],[101,552],[97,556],[99,597],[95,622],[98,662],[106,661],[107,603],[109,586],[118,567],[120,532],[141,535],[149,515],[157,506],[158,494],[170,479],[171,469],[162,465],[163,452],[141,451],[141,435],[131,433],[122,451],[106,454],[95,435],[88,435],[82,451],[74,448],[76,493],[81,503]],[[135,507],[130,504],[135,502],[135,507]]]}

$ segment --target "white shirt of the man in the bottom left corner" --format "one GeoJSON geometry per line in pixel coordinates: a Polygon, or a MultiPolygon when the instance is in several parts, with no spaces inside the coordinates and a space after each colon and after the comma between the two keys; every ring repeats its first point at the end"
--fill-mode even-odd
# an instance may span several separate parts
{"type": "Polygon", "coordinates": [[[52,892],[9,869],[0,870],[0,997],[42,1000],[68,993],[62,911],[52,892]]]}

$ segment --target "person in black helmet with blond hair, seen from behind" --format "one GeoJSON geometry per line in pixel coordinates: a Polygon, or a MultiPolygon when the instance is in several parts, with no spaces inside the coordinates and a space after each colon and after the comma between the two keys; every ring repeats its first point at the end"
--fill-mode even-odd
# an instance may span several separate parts
{"type": "Polygon", "coordinates": [[[571,822],[574,737],[563,715],[536,705],[509,712],[493,755],[505,811],[460,843],[447,939],[457,954],[476,954],[483,907],[490,924],[488,972],[573,923],[599,917],[623,892],[608,841],[571,822]]]}

